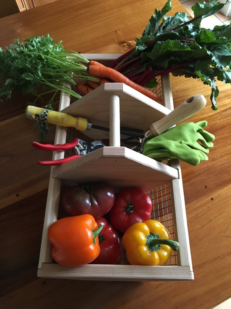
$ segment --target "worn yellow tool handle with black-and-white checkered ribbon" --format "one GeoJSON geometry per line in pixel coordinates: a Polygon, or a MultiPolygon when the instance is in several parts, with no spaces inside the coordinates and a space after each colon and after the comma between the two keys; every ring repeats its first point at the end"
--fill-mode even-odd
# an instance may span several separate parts
{"type": "Polygon", "coordinates": [[[35,119],[35,115],[39,115],[39,120],[62,127],[73,127],[78,130],[86,130],[88,120],[83,117],[73,117],[71,115],[51,111],[49,109],[40,108],[37,106],[28,105],[26,107],[26,118],[35,119]]]}

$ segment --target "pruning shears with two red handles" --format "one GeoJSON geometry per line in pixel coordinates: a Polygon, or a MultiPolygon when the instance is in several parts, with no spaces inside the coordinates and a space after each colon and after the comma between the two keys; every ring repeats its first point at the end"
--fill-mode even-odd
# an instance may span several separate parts
{"type": "Polygon", "coordinates": [[[72,155],[70,157],[58,160],[38,162],[40,165],[62,165],[66,162],[82,157],[82,155],[86,155],[87,153],[92,152],[93,150],[101,148],[105,145],[99,141],[84,142],[79,138],[74,138],[72,142],[65,144],[52,145],[52,144],[40,144],[38,142],[32,142],[32,146],[40,150],[48,150],[48,151],[65,151],[74,148],[76,155],[72,155]]]}

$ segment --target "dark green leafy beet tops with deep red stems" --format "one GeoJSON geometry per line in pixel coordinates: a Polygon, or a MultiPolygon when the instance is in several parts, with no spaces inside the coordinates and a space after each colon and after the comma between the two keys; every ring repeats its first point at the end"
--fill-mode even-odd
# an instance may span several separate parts
{"type": "Polygon", "coordinates": [[[135,48],[110,66],[150,88],[156,87],[156,77],[163,73],[200,78],[212,87],[212,109],[217,110],[216,79],[231,83],[231,24],[205,29],[201,28],[201,20],[230,2],[196,2],[192,19],[184,12],[164,16],[172,9],[168,0],[162,10],[155,9],[142,36],[136,39],[135,48]]]}

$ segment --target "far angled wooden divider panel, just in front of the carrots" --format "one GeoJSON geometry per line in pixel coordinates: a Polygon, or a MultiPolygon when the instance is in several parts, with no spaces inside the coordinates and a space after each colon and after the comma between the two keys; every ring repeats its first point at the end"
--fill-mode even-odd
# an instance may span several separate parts
{"type": "MultiPolygon", "coordinates": [[[[160,103],[133,90],[123,83],[105,83],[75,101],[62,112],[74,117],[85,117],[93,125],[109,128],[109,97],[120,97],[120,125],[128,128],[146,130],[148,126],[170,112],[160,103]]],[[[109,133],[90,129],[84,134],[93,139],[109,138],[109,133]]]]}

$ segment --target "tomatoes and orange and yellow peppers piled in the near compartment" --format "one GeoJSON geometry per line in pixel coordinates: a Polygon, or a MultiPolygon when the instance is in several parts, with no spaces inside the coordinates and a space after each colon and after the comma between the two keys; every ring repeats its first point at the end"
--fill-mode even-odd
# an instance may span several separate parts
{"type": "Polygon", "coordinates": [[[152,201],[140,188],[124,188],[116,194],[103,182],[79,184],[78,188],[82,189],[64,193],[63,210],[68,216],[48,228],[57,263],[72,267],[116,264],[121,255],[120,238],[132,265],[163,264],[172,249],[179,249],[168,230],[150,219],[152,201]],[[74,211],[66,206],[72,202],[74,211]]]}

